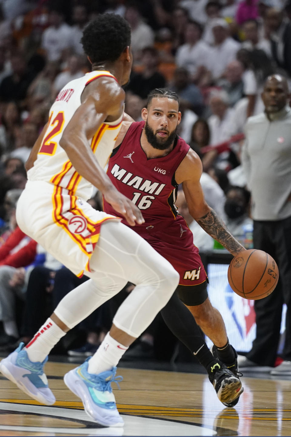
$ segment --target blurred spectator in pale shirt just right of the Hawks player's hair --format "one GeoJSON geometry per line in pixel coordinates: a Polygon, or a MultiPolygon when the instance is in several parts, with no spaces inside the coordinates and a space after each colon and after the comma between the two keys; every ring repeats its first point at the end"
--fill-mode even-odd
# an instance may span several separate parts
{"type": "Polygon", "coordinates": [[[131,49],[134,56],[134,62],[137,63],[140,61],[142,49],[154,44],[154,32],[150,26],[142,21],[138,2],[127,4],[124,17],[130,24],[131,49]]]}

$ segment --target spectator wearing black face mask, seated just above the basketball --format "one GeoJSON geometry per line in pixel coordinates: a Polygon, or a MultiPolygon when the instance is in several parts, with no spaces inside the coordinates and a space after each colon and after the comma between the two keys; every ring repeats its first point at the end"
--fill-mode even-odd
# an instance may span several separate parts
{"type": "MultiPolygon", "coordinates": [[[[226,225],[232,235],[245,246],[245,227],[252,229],[253,220],[248,215],[250,192],[242,187],[229,187],[226,191],[224,211],[226,225]]],[[[252,242],[249,242],[251,245],[252,242]]],[[[248,247],[249,248],[249,247],[248,247]]]]}

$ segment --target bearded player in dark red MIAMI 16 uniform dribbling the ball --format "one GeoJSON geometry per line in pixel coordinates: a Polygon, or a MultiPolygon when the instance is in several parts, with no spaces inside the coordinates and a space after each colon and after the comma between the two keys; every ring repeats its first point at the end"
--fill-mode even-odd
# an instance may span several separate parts
{"type": "MultiPolygon", "coordinates": [[[[217,382],[229,370],[238,375],[237,354],[229,344],[222,316],[209,301],[207,276],[198,248],[193,244],[192,232],[175,208],[178,184],[182,184],[189,212],[209,235],[233,255],[245,249],[205,202],[200,185],[201,161],[176,134],[181,121],[177,94],[155,89],[148,96],[147,107],[142,110],[144,121],[134,122],[126,117],[111,154],[107,174],[115,187],[143,212],[145,222],[136,225],[135,232],[180,274],[176,294],[161,314],[171,331],[204,365],[219,396],[217,382]],[[229,370],[223,366],[219,368],[220,364],[213,364],[213,356],[186,307],[213,341],[214,356],[229,370]]],[[[113,214],[113,208],[106,199],[104,211],[113,214]]],[[[233,399],[223,401],[224,405],[236,405],[242,392],[241,387],[233,399]]]]}

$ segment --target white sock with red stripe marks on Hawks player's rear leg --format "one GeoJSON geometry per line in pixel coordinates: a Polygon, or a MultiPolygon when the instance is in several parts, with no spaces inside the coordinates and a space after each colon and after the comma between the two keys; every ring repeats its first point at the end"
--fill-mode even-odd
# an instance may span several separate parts
{"type": "Polygon", "coordinates": [[[53,320],[48,318],[33,339],[26,345],[28,358],[31,361],[40,361],[42,363],[51,349],[65,334],[53,320]]]}

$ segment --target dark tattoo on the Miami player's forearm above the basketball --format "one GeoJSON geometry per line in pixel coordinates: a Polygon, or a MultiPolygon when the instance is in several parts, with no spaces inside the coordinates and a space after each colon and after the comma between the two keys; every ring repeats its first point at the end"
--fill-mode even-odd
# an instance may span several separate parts
{"type": "Polygon", "coordinates": [[[197,218],[196,222],[234,256],[243,250],[243,246],[231,235],[226,224],[212,208],[206,215],[197,218]]]}

